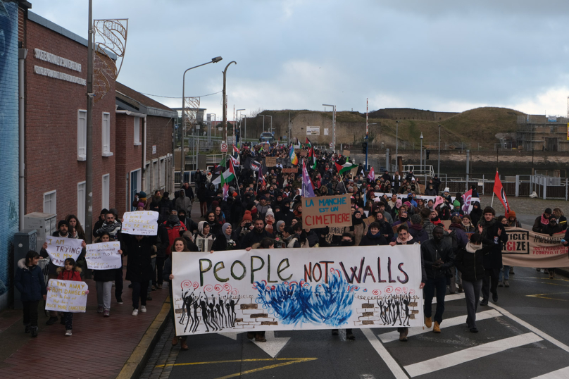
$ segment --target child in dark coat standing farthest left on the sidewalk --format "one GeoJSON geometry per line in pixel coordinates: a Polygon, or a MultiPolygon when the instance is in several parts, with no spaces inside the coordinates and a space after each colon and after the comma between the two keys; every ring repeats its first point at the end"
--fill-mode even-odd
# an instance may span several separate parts
{"type": "Polygon", "coordinates": [[[27,251],[25,258],[18,261],[18,271],[14,275],[14,285],[22,297],[25,333],[31,332],[32,337],[37,337],[37,305],[47,294],[44,274],[37,261],[39,254],[27,251]]]}

